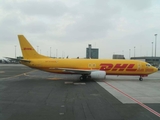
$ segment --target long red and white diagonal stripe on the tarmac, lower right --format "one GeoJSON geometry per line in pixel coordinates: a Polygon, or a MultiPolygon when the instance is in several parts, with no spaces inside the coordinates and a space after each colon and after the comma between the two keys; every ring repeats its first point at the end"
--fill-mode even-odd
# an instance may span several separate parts
{"type": "Polygon", "coordinates": [[[117,90],[118,92],[120,92],[121,94],[123,94],[124,96],[128,97],[129,99],[131,99],[132,101],[138,103],[140,106],[142,106],[143,108],[147,109],[148,111],[150,111],[151,113],[155,114],[156,116],[160,117],[160,113],[158,113],[157,111],[153,110],[152,108],[148,107],[147,105],[143,104],[142,102],[138,101],[137,99],[131,97],[130,95],[126,94],[125,92],[119,90],[118,88],[114,87],[113,85],[109,84],[106,81],[103,81],[104,83],[106,83],[107,85],[109,85],[110,87],[112,87],[113,89],[117,90]]]}

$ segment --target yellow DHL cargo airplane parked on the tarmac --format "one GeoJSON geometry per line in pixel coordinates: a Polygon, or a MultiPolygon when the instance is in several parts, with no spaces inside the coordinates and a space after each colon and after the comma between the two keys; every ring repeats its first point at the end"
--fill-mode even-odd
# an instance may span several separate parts
{"type": "Polygon", "coordinates": [[[138,60],[108,59],[54,59],[40,55],[23,35],[18,35],[23,59],[21,63],[31,68],[52,73],[80,74],[80,80],[104,79],[106,75],[132,75],[143,77],[158,71],[149,63],[138,60]]]}

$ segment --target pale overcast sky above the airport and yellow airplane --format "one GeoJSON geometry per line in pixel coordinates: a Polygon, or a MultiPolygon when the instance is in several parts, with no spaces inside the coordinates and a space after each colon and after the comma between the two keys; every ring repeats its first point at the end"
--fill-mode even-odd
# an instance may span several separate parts
{"type": "Polygon", "coordinates": [[[160,56],[160,0],[1,0],[0,58],[21,56],[23,34],[44,55],[86,56],[99,48],[99,58],[113,54],[160,56]],[[15,47],[16,46],[16,47],[15,47]],[[38,46],[38,47],[37,47],[38,46]]]}

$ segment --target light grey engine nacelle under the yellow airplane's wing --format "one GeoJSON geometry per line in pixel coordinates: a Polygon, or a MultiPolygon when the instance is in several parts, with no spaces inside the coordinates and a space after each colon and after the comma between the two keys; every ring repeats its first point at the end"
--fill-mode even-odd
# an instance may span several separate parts
{"type": "Polygon", "coordinates": [[[105,79],[106,72],[105,71],[92,71],[90,76],[92,79],[105,79]]]}

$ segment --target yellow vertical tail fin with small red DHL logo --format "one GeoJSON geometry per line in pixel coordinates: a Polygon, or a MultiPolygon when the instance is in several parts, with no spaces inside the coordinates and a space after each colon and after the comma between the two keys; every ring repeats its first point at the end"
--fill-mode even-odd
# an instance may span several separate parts
{"type": "Polygon", "coordinates": [[[32,45],[27,41],[23,35],[18,35],[21,51],[23,54],[23,59],[41,59],[48,58],[47,56],[40,55],[32,47],[32,45]]]}

